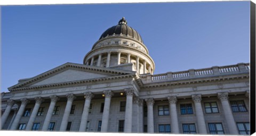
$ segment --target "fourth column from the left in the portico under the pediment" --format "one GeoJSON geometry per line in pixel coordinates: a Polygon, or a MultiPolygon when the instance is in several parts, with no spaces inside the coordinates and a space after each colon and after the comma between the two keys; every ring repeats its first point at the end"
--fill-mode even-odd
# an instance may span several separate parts
{"type": "Polygon", "coordinates": [[[50,121],[51,121],[51,118],[52,118],[53,109],[55,107],[56,102],[59,100],[59,97],[57,97],[55,95],[50,96],[50,98],[51,98],[51,104],[49,106],[48,112],[47,112],[46,117],[44,119],[44,124],[43,124],[43,127],[42,127],[42,131],[48,130],[48,127],[49,127],[49,124],[50,124],[50,121]]]}

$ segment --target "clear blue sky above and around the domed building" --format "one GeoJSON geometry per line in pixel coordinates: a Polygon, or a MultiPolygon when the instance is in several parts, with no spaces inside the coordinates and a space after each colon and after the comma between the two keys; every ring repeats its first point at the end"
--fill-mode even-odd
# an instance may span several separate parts
{"type": "Polygon", "coordinates": [[[83,58],[125,17],[154,74],[250,61],[250,2],[2,6],[2,91],[83,58]]]}

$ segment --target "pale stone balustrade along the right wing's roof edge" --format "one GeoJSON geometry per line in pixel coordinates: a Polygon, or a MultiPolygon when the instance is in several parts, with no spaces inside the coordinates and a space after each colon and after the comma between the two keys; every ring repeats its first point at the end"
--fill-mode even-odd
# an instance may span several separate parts
{"type": "Polygon", "coordinates": [[[205,69],[190,69],[188,71],[180,72],[167,72],[163,74],[155,75],[141,75],[141,80],[145,83],[149,82],[162,82],[162,81],[172,81],[179,79],[189,79],[189,78],[202,78],[211,77],[214,75],[225,75],[234,73],[246,73],[250,71],[249,63],[238,63],[236,65],[228,66],[213,66],[205,69]]]}

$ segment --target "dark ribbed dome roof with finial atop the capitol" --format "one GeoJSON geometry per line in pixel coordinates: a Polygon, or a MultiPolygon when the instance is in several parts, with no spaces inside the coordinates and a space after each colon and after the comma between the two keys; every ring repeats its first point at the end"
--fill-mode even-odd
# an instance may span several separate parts
{"type": "Polygon", "coordinates": [[[114,35],[114,33],[115,33],[115,35],[120,35],[122,33],[123,36],[132,37],[132,38],[140,41],[141,43],[143,43],[140,34],[133,28],[129,27],[127,25],[127,21],[124,18],[122,18],[118,22],[117,25],[115,25],[115,26],[107,29],[105,32],[103,32],[102,35],[100,36],[100,39],[105,38],[106,36],[114,35]]]}

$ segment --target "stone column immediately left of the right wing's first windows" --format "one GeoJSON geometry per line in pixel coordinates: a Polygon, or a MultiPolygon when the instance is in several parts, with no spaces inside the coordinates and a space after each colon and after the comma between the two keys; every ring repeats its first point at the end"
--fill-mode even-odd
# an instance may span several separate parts
{"type": "Polygon", "coordinates": [[[145,99],[148,106],[148,133],[154,133],[154,114],[153,105],[155,103],[153,98],[145,99]]]}

